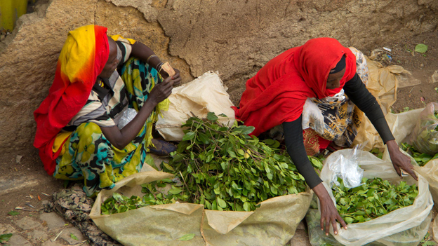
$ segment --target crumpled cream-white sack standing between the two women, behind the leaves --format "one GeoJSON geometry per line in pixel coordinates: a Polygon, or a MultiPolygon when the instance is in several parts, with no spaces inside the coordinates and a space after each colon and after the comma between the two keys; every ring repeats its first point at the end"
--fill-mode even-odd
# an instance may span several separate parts
{"type": "Polygon", "coordinates": [[[173,88],[168,97],[171,101],[168,111],[161,111],[155,128],[168,141],[180,141],[184,132],[181,125],[192,113],[198,117],[206,117],[208,112],[216,115],[225,114],[220,123],[232,125],[234,110],[230,95],[224,88],[217,73],[207,71],[199,78],[183,86],[173,88]]]}

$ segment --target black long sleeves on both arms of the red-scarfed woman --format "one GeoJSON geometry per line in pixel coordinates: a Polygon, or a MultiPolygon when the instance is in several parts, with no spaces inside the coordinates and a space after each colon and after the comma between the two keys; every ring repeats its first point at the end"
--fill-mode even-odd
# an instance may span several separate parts
{"type": "MultiPolygon", "coordinates": [[[[359,75],[356,74],[350,81],[347,81],[343,89],[345,95],[347,95],[348,98],[366,114],[371,123],[373,123],[384,143],[394,139],[376,97],[366,89],[359,75]]],[[[301,122],[302,116],[295,121],[284,122],[284,139],[288,154],[291,156],[293,163],[295,163],[298,172],[303,175],[307,184],[313,189],[314,186],[320,184],[322,180],[314,171],[310,160],[307,158],[301,122]]]]}

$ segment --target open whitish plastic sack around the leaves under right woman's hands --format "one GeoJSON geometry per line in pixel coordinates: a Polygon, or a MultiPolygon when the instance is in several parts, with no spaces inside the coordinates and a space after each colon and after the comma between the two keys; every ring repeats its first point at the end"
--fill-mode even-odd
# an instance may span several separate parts
{"type": "MultiPolygon", "coordinates": [[[[333,160],[338,158],[338,155],[349,156],[350,151],[352,150],[344,149],[336,151],[324,160],[324,164],[333,162],[333,160]]],[[[383,160],[380,160],[373,156],[372,153],[358,151],[357,160],[360,168],[364,169],[364,178],[373,179],[378,177],[389,181],[393,185],[400,184],[401,180],[395,172],[392,163],[387,158],[389,157],[384,155],[383,160]]],[[[423,239],[429,228],[432,219],[430,211],[433,207],[433,201],[427,181],[423,176],[417,176],[418,182],[412,177],[405,177],[403,180],[406,184],[416,184],[418,187],[418,195],[413,200],[412,205],[401,207],[368,221],[361,219],[365,218],[364,215],[361,215],[362,217],[358,216],[359,221],[363,222],[348,224],[347,230],[341,229],[340,225],[337,224],[338,235],[334,235],[332,229],[331,235],[343,245],[366,245],[371,242],[382,243],[384,245],[418,245],[418,242],[423,239]]],[[[321,179],[333,203],[336,204],[336,199],[331,189],[332,177],[333,172],[329,170],[328,165],[324,165],[321,170],[321,179]]],[[[406,194],[406,196],[409,196],[409,194],[406,194]]],[[[383,198],[378,197],[378,199],[383,198]]]]}

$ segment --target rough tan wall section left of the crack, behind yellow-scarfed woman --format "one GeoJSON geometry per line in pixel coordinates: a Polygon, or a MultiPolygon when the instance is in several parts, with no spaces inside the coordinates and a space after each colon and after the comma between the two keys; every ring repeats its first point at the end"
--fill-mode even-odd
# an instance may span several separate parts
{"type": "MultiPolygon", "coordinates": [[[[53,0],[39,11],[23,15],[19,27],[0,45],[0,149],[15,153],[33,149],[33,111],[48,94],[55,64],[69,30],[82,25],[103,25],[108,34],[121,34],[150,46],[161,60],[193,77],[184,60],[168,55],[169,38],[158,22],[147,22],[132,7],[117,7],[103,0],[53,0]]],[[[16,153],[15,153],[16,154],[16,153]]]]}

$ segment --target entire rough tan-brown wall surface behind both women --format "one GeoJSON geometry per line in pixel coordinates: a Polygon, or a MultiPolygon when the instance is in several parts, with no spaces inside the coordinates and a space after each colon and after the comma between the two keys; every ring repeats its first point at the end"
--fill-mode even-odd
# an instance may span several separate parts
{"type": "Polygon", "coordinates": [[[50,0],[0,43],[0,148],[32,149],[32,112],[46,97],[67,32],[103,25],[150,46],[184,81],[219,71],[230,94],[272,57],[330,36],[371,49],[434,32],[437,0],[50,0]]]}

